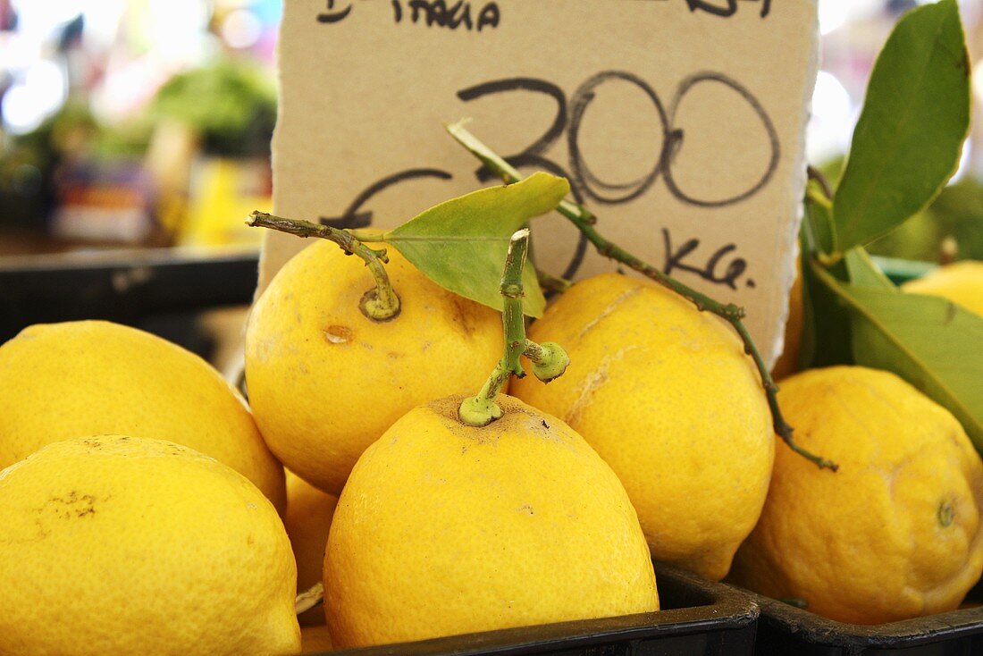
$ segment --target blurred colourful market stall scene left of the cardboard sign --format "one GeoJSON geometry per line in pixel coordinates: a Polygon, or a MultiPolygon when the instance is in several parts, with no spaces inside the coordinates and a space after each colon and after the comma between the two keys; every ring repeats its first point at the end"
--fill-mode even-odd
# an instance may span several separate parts
{"type": "Polygon", "coordinates": [[[257,245],[239,218],[270,203],[277,3],[12,10],[0,25],[0,254],[257,245]]]}

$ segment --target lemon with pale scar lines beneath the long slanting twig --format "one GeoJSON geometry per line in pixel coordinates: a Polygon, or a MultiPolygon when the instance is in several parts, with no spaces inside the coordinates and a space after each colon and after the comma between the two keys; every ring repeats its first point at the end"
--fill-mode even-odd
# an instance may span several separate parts
{"type": "Polygon", "coordinates": [[[648,280],[573,285],[529,336],[566,348],[549,386],[512,384],[607,461],[656,560],[720,579],[765,503],[774,433],[757,370],[723,322],[648,280]]]}

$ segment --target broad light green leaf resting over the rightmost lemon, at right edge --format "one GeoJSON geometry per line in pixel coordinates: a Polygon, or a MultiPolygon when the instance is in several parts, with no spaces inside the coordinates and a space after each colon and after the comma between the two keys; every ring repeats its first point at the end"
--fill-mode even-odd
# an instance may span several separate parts
{"type": "Polygon", "coordinates": [[[943,298],[818,276],[849,308],[856,363],[892,371],[947,407],[983,452],[983,318],[943,298]]]}

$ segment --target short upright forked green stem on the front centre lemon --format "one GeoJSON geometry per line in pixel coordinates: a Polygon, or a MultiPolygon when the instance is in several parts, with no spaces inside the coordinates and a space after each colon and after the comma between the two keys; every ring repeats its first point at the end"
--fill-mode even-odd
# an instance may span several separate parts
{"type": "MultiPolygon", "coordinates": [[[[494,420],[501,418],[502,409],[495,402],[495,398],[510,376],[514,374],[523,378],[526,375],[519,362],[519,356],[526,355],[532,360],[534,371],[537,368],[546,368],[552,374],[559,370],[549,380],[562,374],[562,370],[565,370],[570,362],[559,346],[549,342],[537,344],[526,338],[526,323],[522,312],[522,299],[526,293],[522,284],[522,269],[525,267],[528,252],[529,228],[523,228],[515,232],[508,242],[505,269],[498,285],[498,292],[502,296],[501,325],[505,333],[504,352],[478,395],[465,398],[458,408],[457,414],[461,421],[469,426],[488,426],[494,420]]],[[[538,372],[537,377],[543,380],[538,372]]]]}

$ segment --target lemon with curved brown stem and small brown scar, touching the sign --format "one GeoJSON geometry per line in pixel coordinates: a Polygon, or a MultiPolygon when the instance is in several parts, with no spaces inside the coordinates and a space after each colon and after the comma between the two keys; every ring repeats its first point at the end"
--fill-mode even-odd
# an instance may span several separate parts
{"type": "Polygon", "coordinates": [[[396,419],[480,388],[501,354],[497,313],[438,287],[398,253],[389,258],[401,300],[395,319],[362,314],[372,276],[318,241],[270,281],[246,329],[246,382],[263,438],[287,468],[332,495],[396,419]]]}

